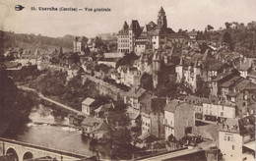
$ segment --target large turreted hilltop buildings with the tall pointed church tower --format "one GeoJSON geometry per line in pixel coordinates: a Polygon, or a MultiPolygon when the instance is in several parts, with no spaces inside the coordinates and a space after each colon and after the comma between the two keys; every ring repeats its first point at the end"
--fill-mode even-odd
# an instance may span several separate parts
{"type": "Polygon", "coordinates": [[[150,22],[145,27],[140,27],[139,22],[133,20],[130,27],[125,22],[118,32],[118,52],[135,52],[141,55],[148,50],[164,49],[166,44],[185,43],[188,41],[186,34],[175,33],[167,27],[165,11],[160,7],[157,24],[150,22]]]}

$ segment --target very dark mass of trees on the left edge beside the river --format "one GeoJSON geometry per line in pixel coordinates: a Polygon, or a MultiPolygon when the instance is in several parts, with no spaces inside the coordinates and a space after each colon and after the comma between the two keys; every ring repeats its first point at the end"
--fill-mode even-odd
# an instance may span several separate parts
{"type": "Polygon", "coordinates": [[[17,88],[4,69],[0,69],[0,119],[8,123],[8,134],[17,134],[29,122],[35,94],[17,88]]]}

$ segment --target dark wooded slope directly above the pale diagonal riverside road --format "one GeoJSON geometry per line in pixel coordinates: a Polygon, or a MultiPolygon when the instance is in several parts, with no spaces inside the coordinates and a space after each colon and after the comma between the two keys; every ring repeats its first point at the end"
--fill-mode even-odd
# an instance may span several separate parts
{"type": "Polygon", "coordinates": [[[77,110],[81,110],[81,102],[87,97],[99,97],[95,82],[85,80],[82,83],[80,76],[66,82],[66,78],[66,73],[48,71],[32,80],[30,87],[77,110]]]}

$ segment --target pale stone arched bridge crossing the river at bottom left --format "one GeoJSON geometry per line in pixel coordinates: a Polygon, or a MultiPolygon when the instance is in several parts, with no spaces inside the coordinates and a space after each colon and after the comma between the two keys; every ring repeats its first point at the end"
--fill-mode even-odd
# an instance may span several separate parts
{"type": "MultiPolygon", "coordinates": [[[[0,156],[10,157],[14,161],[32,161],[32,160],[48,160],[48,161],[75,161],[86,158],[87,156],[74,154],[71,152],[50,149],[21,142],[13,139],[0,137],[0,156]]],[[[1,160],[1,159],[0,159],[1,160]]]]}

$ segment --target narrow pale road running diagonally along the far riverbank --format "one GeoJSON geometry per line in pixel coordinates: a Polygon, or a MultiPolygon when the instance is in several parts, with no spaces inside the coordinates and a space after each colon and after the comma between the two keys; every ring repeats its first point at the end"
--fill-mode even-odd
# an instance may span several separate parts
{"type": "MultiPolygon", "coordinates": [[[[38,96],[39,96],[41,99],[44,99],[44,100],[46,100],[46,101],[48,101],[48,102],[51,102],[51,103],[54,103],[54,104],[60,106],[61,108],[66,109],[66,110],[68,110],[68,111],[71,111],[71,112],[76,113],[76,114],[79,114],[79,115],[85,115],[85,114],[82,113],[81,111],[75,110],[74,108],[71,108],[71,107],[69,107],[69,106],[67,106],[67,105],[64,105],[64,104],[62,104],[62,103],[59,103],[59,102],[57,102],[57,101],[55,101],[55,100],[53,100],[53,99],[50,99],[50,98],[45,97],[42,93],[36,91],[36,90],[33,89],[33,88],[30,88],[30,87],[24,86],[24,85],[18,85],[18,87],[19,87],[19,88],[22,88],[22,89],[24,89],[24,90],[31,90],[31,91],[34,91],[34,92],[36,92],[36,93],[38,94],[38,96]]],[[[86,116],[86,115],[85,115],[85,116],[86,116]]]]}

